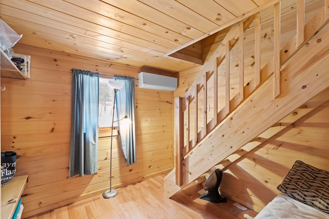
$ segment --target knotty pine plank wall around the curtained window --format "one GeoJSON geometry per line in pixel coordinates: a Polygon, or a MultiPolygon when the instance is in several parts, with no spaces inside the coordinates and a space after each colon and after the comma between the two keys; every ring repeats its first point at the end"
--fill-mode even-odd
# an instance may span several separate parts
{"type": "MultiPolygon", "coordinates": [[[[28,173],[23,217],[67,205],[109,187],[111,133],[99,135],[98,173],[68,178],[71,69],[138,78],[141,69],[18,44],[31,55],[31,78],[1,78],[2,151],[17,152],[17,175],[28,173]]],[[[114,138],[114,188],[140,182],[173,168],[173,92],[139,89],[136,81],[137,164],[126,166],[114,138]]]]}

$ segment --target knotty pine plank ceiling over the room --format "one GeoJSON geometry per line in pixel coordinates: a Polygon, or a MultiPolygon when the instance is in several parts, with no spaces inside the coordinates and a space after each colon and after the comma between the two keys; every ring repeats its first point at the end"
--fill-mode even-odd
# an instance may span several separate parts
{"type": "Polygon", "coordinates": [[[19,43],[136,67],[195,66],[168,54],[275,0],[0,0],[19,43]]]}

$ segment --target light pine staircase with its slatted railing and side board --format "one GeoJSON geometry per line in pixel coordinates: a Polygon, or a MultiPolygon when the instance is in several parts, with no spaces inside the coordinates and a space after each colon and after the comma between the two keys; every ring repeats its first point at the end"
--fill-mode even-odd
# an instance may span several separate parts
{"type": "Polygon", "coordinates": [[[165,177],[166,196],[171,197],[216,165],[225,169],[329,98],[329,0],[324,0],[306,25],[305,1],[297,1],[296,35],[282,48],[280,4],[273,7],[273,56],[263,68],[257,13],[231,27],[185,96],[175,99],[176,159],[175,169],[165,177]],[[244,34],[251,25],[254,77],[245,83],[244,34]],[[235,45],[239,46],[239,93],[231,98],[230,55],[235,45]],[[222,63],[225,106],[219,108],[218,69],[222,63]],[[208,102],[212,103],[212,114],[208,102]]]}

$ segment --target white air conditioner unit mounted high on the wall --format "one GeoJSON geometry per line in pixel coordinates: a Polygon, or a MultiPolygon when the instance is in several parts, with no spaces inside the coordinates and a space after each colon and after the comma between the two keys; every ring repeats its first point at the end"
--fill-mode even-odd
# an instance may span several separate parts
{"type": "Polygon", "coordinates": [[[138,87],[155,90],[173,91],[177,88],[177,78],[147,72],[140,72],[138,74],[138,87]]]}

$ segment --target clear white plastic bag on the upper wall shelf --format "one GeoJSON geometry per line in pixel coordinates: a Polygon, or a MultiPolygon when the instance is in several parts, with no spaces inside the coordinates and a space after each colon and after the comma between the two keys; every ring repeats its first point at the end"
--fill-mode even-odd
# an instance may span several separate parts
{"type": "Polygon", "coordinates": [[[0,48],[5,51],[13,47],[23,34],[17,34],[2,19],[0,19],[0,48]]]}

